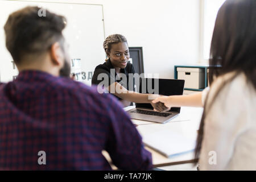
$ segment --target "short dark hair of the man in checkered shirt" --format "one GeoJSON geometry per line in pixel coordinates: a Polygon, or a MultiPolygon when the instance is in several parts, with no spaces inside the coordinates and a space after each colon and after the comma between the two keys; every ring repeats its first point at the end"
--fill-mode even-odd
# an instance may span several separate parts
{"type": "Polygon", "coordinates": [[[20,64],[23,56],[40,54],[52,44],[63,39],[62,31],[67,20],[46,10],[46,16],[39,16],[41,9],[28,6],[9,15],[5,24],[6,48],[14,63],[20,64]]]}

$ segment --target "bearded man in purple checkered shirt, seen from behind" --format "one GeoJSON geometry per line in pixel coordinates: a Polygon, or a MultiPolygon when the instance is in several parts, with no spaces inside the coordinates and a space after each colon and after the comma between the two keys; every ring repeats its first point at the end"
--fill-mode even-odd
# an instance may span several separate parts
{"type": "Polygon", "coordinates": [[[6,47],[19,70],[0,85],[1,169],[151,169],[150,152],[109,94],[68,78],[66,20],[38,7],[11,14],[6,47]],[[65,77],[60,77],[63,75],[65,77]]]}

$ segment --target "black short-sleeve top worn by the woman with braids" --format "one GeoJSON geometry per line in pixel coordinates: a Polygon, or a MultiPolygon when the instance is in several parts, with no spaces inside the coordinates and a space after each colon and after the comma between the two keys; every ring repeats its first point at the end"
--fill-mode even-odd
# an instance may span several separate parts
{"type": "MultiPolygon", "coordinates": [[[[95,68],[93,77],[92,77],[92,85],[98,85],[102,81],[104,81],[105,77],[101,77],[101,76],[98,77],[101,73],[105,73],[105,75],[108,76],[108,85],[111,85],[113,82],[119,82],[119,84],[122,84],[122,86],[124,86],[127,90],[135,91],[134,78],[129,76],[129,73],[134,74],[134,67],[133,67],[133,64],[131,64],[130,62],[127,63],[124,69],[123,68],[120,69],[120,73],[124,73],[126,75],[126,82],[123,82],[125,80],[117,76],[117,73],[114,71],[114,67],[110,59],[108,59],[108,61],[106,61],[104,64],[100,64],[95,68]],[[129,82],[129,78],[130,78],[130,81],[133,81],[133,82],[129,82]],[[131,80],[131,78],[133,78],[133,80],[131,80]]],[[[118,98],[118,99],[121,100],[121,98],[118,98]]]]}

